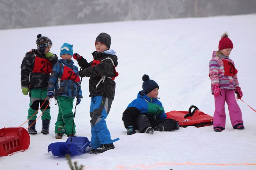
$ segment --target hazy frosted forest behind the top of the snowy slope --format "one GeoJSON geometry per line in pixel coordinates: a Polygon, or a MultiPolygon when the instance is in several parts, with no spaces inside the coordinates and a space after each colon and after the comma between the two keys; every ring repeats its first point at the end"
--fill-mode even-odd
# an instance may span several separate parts
{"type": "Polygon", "coordinates": [[[256,13],[256,0],[0,0],[0,29],[256,13]]]}

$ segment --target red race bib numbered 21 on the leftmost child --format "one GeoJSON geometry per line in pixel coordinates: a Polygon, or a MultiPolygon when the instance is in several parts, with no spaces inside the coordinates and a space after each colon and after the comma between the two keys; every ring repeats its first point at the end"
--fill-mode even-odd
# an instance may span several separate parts
{"type": "Polygon", "coordinates": [[[47,59],[40,57],[35,58],[33,73],[45,73],[50,74],[52,72],[52,63],[47,59]]]}

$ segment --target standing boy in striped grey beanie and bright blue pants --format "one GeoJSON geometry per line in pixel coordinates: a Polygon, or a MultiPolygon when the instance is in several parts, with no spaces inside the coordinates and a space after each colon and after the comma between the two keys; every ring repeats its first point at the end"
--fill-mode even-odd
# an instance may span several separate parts
{"type": "Polygon", "coordinates": [[[114,50],[109,50],[111,38],[107,33],[100,33],[95,40],[95,49],[92,53],[93,61],[87,62],[82,56],[75,53],[74,59],[78,61],[83,69],[79,72],[81,77],[90,77],[89,91],[91,98],[91,153],[101,153],[109,149],[114,149],[110,132],[106,124],[112,101],[115,96],[115,77],[118,75],[117,56],[114,50]]]}

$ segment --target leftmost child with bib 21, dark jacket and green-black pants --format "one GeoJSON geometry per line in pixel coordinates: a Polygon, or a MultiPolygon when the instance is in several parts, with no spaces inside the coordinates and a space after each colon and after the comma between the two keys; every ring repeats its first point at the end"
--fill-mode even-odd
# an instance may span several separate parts
{"type": "Polygon", "coordinates": [[[52,71],[52,66],[58,61],[56,54],[50,53],[52,41],[48,37],[37,35],[37,49],[32,49],[26,53],[21,63],[21,87],[22,93],[30,97],[28,109],[28,132],[29,134],[37,134],[36,131],[36,114],[31,117],[39,107],[44,111],[42,115],[42,131],[43,134],[49,134],[49,125],[51,120],[49,98],[47,98],[47,85],[52,71]],[[46,100],[46,101],[45,101],[46,100]],[[45,101],[45,102],[44,102],[45,101]],[[33,125],[32,125],[33,124],[33,125]]]}

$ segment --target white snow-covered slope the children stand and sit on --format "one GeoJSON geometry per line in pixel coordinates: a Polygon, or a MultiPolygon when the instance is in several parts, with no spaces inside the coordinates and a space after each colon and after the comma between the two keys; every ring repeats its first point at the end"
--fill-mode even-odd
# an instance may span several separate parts
{"type": "MultiPolygon", "coordinates": [[[[52,53],[58,57],[63,43],[74,44],[74,52],[92,60],[94,42],[100,32],[111,35],[111,49],[118,56],[119,76],[116,96],[106,119],[115,149],[92,155],[73,156],[72,161],[84,169],[256,169],[256,113],[240,100],[245,130],[234,130],[226,107],[226,129],[221,133],[212,126],[180,128],[172,132],[126,135],[122,113],[142,89],[142,75],[148,74],[160,89],[159,97],[166,112],[188,110],[196,105],[212,115],[214,100],[208,77],[208,62],[217,50],[220,36],[227,31],[234,49],[230,58],[238,70],[243,100],[256,108],[256,15],[212,18],[183,18],[155,21],[114,22],[68,25],[0,31],[2,64],[0,128],[18,127],[27,119],[29,97],[20,89],[20,64],[25,53],[36,48],[36,36],[49,37],[52,53]]],[[[84,99],[76,108],[76,135],[91,138],[88,90],[89,78],[82,81],[84,99]]],[[[37,135],[30,135],[25,152],[0,157],[1,170],[69,169],[65,158],[53,157],[47,146],[66,141],[54,138],[58,106],[50,103],[50,134],[40,133],[41,119],[36,123],[37,135]]],[[[39,112],[41,114],[41,112],[39,112]]],[[[38,114],[39,115],[39,114],[38,114]]],[[[23,126],[27,128],[27,124],[23,126]]]]}

